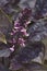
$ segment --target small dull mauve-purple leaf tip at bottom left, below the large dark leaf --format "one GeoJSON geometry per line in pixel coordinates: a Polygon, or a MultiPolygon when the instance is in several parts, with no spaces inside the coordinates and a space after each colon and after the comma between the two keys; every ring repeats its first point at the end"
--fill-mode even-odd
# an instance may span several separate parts
{"type": "Polygon", "coordinates": [[[23,68],[23,66],[15,58],[17,57],[14,57],[10,63],[10,70],[20,70],[23,68]]]}

